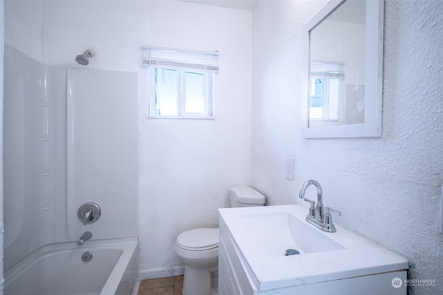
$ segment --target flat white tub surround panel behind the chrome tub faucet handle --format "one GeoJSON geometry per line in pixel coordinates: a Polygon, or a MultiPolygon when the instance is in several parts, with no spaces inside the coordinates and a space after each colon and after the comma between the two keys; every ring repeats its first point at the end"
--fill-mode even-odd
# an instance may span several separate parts
{"type": "Polygon", "coordinates": [[[68,240],[85,230],[93,239],[137,236],[138,75],[91,69],[66,75],[68,240]],[[83,225],[77,212],[87,202],[98,204],[101,215],[83,225]]]}

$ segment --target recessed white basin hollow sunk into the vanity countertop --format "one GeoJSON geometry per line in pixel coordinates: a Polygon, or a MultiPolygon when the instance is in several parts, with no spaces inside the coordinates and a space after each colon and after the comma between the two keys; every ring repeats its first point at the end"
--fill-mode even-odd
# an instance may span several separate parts
{"type": "Polygon", "coordinates": [[[255,246],[269,257],[285,256],[287,249],[300,255],[345,249],[289,212],[241,214],[238,219],[255,246]]]}

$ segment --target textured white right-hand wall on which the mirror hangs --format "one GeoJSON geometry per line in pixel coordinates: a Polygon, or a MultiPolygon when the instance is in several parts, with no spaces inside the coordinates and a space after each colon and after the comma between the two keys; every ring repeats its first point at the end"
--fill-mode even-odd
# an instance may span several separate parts
{"type": "Polygon", "coordinates": [[[443,6],[385,1],[381,138],[305,140],[302,26],[325,3],[255,7],[251,183],[270,204],[291,204],[305,203],[297,200],[302,183],[318,180],[325,204],[343,212],[338,225],[405,256],[408,278],[435,279],[410,294],[442,294],[443,6]],[[284,178],[285,157],[295,158],[294,181],[284,178]]]}

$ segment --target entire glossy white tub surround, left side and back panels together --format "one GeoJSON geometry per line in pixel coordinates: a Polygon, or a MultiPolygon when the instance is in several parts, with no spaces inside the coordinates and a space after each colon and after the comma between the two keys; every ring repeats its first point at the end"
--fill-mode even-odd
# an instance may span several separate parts
{"type": "Polygon", "coordinates": [[[5,48],[5,269],[84,231],[137,236],[137,73],[46,66],[5,48]],[[102,216],[84,225],[89,201],[102,216]]]}

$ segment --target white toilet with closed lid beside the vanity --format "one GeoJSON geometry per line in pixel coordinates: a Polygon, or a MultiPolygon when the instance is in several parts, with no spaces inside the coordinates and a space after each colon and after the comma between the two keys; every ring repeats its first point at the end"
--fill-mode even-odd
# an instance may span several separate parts
{"type": "MultiPolygon", "coordinates": [[[[263,206],[264,196],[246,186],[229,189],[230,207],[263,206]]],[[[210,295],[211,272],[218,268],[219,229],[200,228],[183,231],[177,237],[175,252],[183,265],[183,295],[210,295]]]]}

